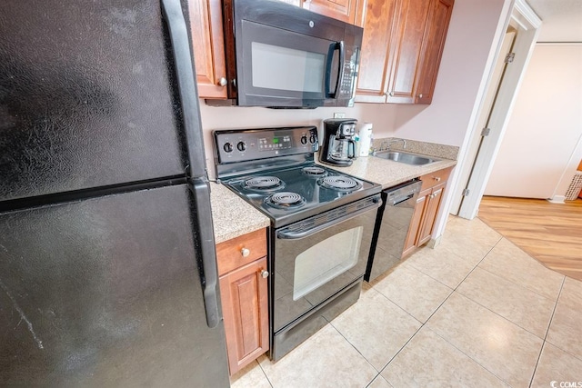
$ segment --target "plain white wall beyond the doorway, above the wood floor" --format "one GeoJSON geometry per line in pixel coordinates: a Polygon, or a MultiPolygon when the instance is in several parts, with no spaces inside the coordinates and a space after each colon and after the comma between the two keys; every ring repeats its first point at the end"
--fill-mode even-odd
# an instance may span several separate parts
{"type": "Polygon", "coordinates": [[[582,45],[537,45],[486,195],[566,194],[582,158],[582,45]]]}

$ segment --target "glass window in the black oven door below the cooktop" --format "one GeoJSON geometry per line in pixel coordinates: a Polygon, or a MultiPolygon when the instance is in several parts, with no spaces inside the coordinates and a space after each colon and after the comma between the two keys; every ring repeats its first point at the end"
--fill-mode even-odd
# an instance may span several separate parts
{"type": "Polygon", "coordinates": [[[333,235],[296,257],[294,301],[357,264],[363,230],[358,226],[333,235]]]}

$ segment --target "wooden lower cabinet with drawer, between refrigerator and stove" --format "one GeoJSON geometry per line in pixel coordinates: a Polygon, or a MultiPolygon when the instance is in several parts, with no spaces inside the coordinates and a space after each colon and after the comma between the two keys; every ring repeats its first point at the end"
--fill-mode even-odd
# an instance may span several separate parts
{"type": "Polygon", "coordinates": [[[266,231],[216,245],[230,374],[269,349],[266,231]]]}

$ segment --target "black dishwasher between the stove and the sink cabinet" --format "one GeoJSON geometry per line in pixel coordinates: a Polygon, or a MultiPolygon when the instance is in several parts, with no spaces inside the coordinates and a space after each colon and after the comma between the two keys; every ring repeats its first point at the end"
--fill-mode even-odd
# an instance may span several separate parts
{"type": "Polygon", "coordinates": [[[376,217],[364,275],[366,282],[373,281],[400,261],[421,186],[422,182],[413,180],[382,192],[383,204],[376,217]]]}

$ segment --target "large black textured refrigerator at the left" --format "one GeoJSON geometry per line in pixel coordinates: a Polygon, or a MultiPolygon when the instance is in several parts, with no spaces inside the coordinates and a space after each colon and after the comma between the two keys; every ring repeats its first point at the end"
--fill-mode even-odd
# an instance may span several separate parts
{"type": "Polygon", "coordinates": [[[0,386],[228,386],[180,0],[0,2],[0,386]]]}

